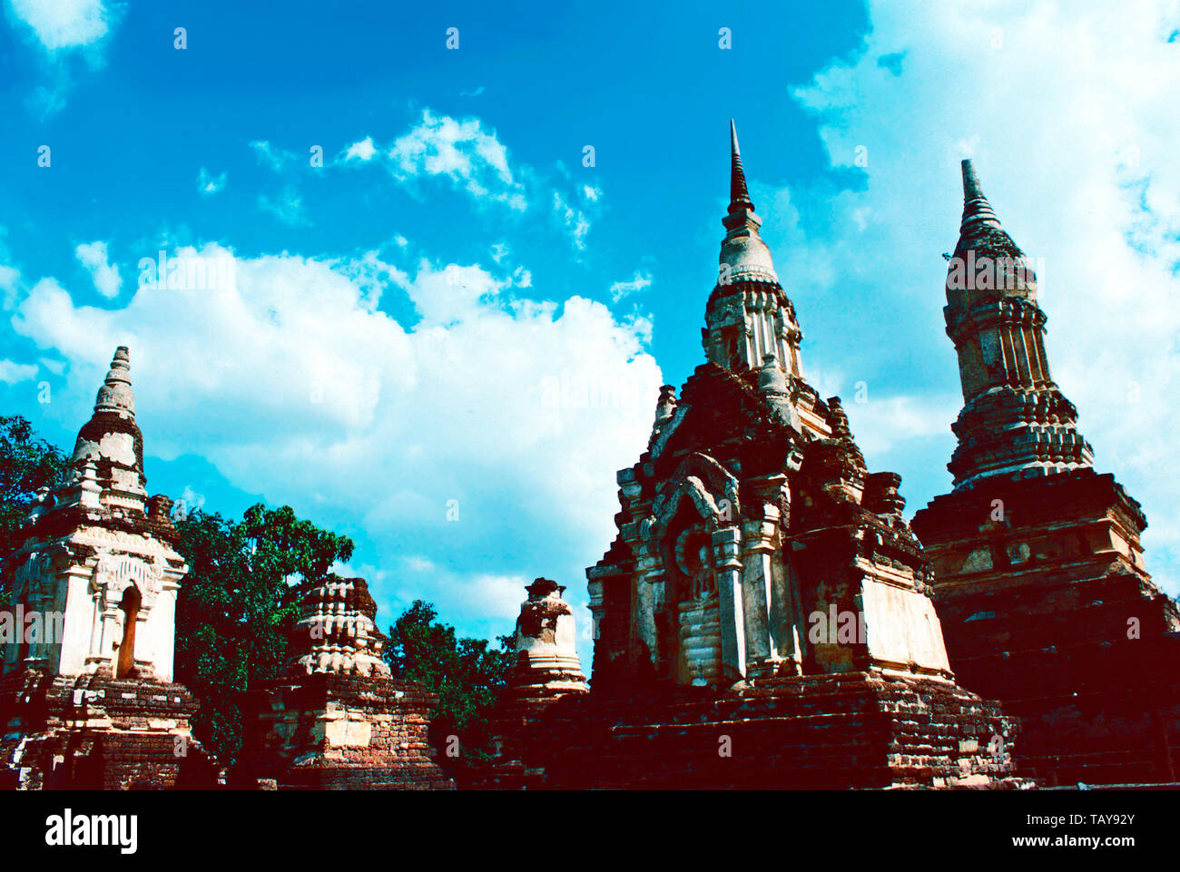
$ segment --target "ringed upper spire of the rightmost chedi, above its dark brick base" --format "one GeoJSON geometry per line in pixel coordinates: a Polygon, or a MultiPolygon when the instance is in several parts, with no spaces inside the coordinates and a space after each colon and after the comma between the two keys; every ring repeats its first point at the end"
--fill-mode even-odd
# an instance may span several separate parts
{"type": "Polygon", "coordinates": [[[1029,258],[1001,225],[970,160],[963,221],[946,274],[946,334],[958,353],[963,411],[948,468],[956,490],[990,476],[1087,467],[1077,409],[1049,375],[1045,315],[1029,258]]]}

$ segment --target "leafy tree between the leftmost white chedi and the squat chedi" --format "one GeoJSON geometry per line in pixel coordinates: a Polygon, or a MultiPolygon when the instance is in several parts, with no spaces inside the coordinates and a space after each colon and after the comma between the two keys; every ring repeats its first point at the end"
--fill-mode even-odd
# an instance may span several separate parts
{"type": "Polygon", "coordinates": [[[202,700],[194,733],[223,763],[242,747],[242,694],[276,677],[299,602],[353,543],[290,506],[245,510],[241,522],[194,512],[177,522],[189,564],[176,608],[176,675],[202,700]]]}

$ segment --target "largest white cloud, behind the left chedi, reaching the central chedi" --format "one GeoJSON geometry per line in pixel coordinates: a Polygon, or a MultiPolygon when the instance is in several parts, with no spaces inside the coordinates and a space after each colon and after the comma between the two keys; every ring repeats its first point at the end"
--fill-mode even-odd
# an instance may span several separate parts
{"type": "Polygon", "coordinates": [[[582,598],[577,576],[612,535],[614,472],[651,424],[650,323],[577,296],[519,297],[512,273],[479,264],[235,263],[232,283],[145,284],[113,310],[38,282],[13,327],[68,361],[57,396],[76,401],[53,412],[81,420],[127,345],[149,454],[201,454],[247,492],[363,530],[388,573],[382,608],[422,597],[507,631],[527,578],[564,578],[582,598]],[[382,294],[421,320],[404,327],[382,294]]]}

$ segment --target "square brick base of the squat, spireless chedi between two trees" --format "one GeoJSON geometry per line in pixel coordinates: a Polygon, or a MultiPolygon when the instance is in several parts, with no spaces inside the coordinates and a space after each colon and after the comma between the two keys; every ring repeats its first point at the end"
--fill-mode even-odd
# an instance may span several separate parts
{"type": "Polygon", "coordinates": [[[454,789],[427,741],[434,696],[418,684],[316,673],[249,697],[235,787],[454,789]]]}

